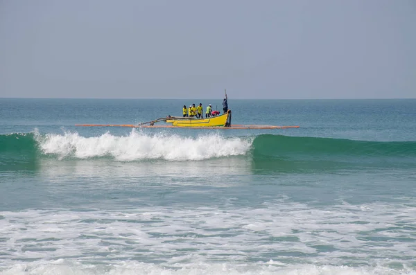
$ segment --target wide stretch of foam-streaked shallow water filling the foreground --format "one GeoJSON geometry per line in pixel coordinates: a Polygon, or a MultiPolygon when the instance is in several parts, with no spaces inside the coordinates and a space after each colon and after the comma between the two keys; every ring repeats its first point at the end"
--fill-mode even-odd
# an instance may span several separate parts
{"type": "Polygon", "coordinates": [[[3,211],[0,273],[416,274],[409,202],[3,211]]]}

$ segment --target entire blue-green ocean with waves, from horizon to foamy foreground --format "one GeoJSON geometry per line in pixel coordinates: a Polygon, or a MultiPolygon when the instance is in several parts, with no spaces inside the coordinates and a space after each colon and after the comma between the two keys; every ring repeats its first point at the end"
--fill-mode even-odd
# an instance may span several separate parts
{"type": "Polygon", "coordinates": [[[416,100],[0,98],[0,274],[416,274],[416,100]]]}

